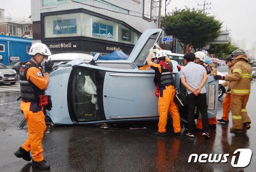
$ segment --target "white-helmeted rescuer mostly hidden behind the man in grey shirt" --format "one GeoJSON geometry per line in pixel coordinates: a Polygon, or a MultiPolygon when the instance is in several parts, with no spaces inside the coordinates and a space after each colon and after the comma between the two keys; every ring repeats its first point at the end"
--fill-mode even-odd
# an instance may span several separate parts
{"type": "MultiPolygon", "coordinates": [[[[210,61],[209,57],[206,57],[206,54],[204,52],[197,51],[195,53],[195,56],[196,56],[196,63],[199,65],[202,65],[206,69],[207,74],[210,74],[212,76],[215,76],[217,74],[217,70],[213,67],[214,64],[212,63],[212,61],[210,61]]],[[[213,118],[208,118],[208,122],[209,122],[209,127],[214,129],[216,128],[216,124],[217,124],[216,116],[213,118]]],[[[203,128],[202,119],[197,119],[196,128],[198,129],[203,128]]]]}

